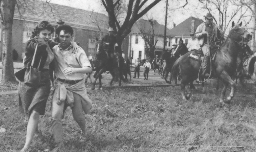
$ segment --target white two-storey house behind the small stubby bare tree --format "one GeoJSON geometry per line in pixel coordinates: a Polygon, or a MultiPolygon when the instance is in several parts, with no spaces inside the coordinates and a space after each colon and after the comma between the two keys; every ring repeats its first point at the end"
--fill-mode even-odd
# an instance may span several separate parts
{"type": "MultiPolygon", "coordinates": [[[[141,36],[140,30],[139,30],[139,25],[141,23],[144,24],[145,31],[150,31],[151,26],[150,23],[147,20],[141,19],[137,21],[137,23],[134,24],[134,26],[131,29],[131,33],[129,34],[129,45],[128,45],[128,54],[130,54],[131,51],[131,57],[132,63],[135,62],[135,59],[146,59],[146,54],[145,54],[145,42],[144,39],[141,36]]],[[[158,39],[157,44],[156,44],[156,49],[155,49],[155,55],[160,55],[163,51],[164,47],[164,29],[165,26],[159,24],[157,21],[155,21],[154,24],[154,35],[155,35],[155,40],[158,39]]],[[[166,30],[166,49],[170,50],[172,48],[172,37],[170,34],[170,30],[166,30]]]]}

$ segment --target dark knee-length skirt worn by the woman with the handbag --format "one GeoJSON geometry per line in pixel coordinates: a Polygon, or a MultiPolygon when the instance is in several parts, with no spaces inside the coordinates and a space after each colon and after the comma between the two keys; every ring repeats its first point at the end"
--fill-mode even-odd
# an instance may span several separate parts
{"type": "Polygon", "coordinates": [[[46,102],[51,90],[49,71],[41,72],[41,84],[38,87],[31,87],[24,82],[19,84],[19,96],[22,108],[26,115],[30,116],[32,110],[44,115],[46,102]]]}

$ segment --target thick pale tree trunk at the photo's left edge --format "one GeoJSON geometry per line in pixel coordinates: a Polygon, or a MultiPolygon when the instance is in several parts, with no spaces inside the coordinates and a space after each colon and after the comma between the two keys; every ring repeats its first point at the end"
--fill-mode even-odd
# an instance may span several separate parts
{"type": "Polygon", "coordinates": [[[16,0],[2,0],[2,83],[16,82],[13,70],[12,27],[16,0]]]}

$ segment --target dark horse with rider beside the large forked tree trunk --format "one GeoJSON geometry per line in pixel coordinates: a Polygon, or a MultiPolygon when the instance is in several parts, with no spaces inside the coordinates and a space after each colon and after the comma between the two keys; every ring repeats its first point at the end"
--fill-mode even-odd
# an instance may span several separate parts
{"type": "MultiPolygon", "coordinates": [[[[101,88],[101,74],[109,71],[110,74],[112,75],[112,79],[110,81],[110,85],[112,85],[112,82],[115,78],[115,69],[118,70],[118,74],[119,74],[119,86],[121,86],[121,81],[123,78],[122,75],[122,68],[123,68],[123,64],[124,64],[124,59],[121,55],[114,55],[115,59],[110,59],[109,54],[107,54],[107,52],[104,50],[104,45],[103,45],[103,41],[98,40],[98,38],[96,38],[96,58],[94,61],[94,66],[96,68],[96,71],[93,75],[93,77],[95,78],[94,82],[92,83],[92,87],[91,90],[95,89],[95,85],[96,85],[96,81],[99,78],[99,88],[98,90],[100,90],[101,88]],[[116,59],[117,56],[117,59],[116,59]],[[113,64],[114,62],[114,64],[113,64]]],[[[119,48],[120,49],[120,48],[119,48]]]]}

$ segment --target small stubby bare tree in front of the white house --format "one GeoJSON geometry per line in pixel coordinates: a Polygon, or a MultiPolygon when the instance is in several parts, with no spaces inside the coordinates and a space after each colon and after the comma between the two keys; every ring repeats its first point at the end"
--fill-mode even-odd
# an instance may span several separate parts
{"type": "Polygon", "coordinates": [[[135,24],[140,30],[141,36],[145,43],[145,54],[147,56],[150,56],[151,59],[153,59],[156,44],[158,42],[159,37],[159,35],[157,35],[154,30],[155,26],[157,25],[157,21],[152,18],[148,20],[141,19],[137,21],[135,24]]]}

